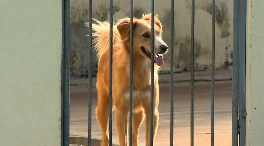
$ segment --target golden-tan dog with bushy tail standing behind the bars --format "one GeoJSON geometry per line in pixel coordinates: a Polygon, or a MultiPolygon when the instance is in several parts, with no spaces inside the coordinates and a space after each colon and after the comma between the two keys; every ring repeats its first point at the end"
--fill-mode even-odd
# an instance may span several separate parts
{"type": "MultiPolygon", "coordinates": [[[[138,146],[139,127],[145,118],[146,146],[150,146],[151,115],[151,35],[154,35],[154,111],[153,144],[159,120],[158,70],[163,65],[163,54],[168,52],[162,40],[162,25],[157,15],[154,17],[154,34],[151,34],[151,14],[143,14],[141,19],[133,19],[133,145],[138,146]]],[[[96,88],[98,103],[96,119],[101,127],[101,146],[108,146],[109,121],[109,58],[110,24],[93,19],[92,36],[98,57],[96,88]]],[[[88,23],[86,23],[88,26],[88,23]]],[[[115,126],[120,146],[128,146],[129,114],[129,73],[130,73],[130,18],[118,20],[113,25],[113,110],[115,126]]],[[[131,123],[132,124],[132,123],[131,123]]]]}

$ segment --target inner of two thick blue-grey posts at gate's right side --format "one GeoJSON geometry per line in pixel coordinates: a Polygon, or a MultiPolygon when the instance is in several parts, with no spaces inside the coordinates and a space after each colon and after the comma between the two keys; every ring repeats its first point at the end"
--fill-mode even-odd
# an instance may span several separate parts
{"type": "Polygon", "coordinates": [[[232,146],[238,145],[238,95],[239,95],[239,10],[240,0],[234,0],[233,23],[233,99],[232,99],[232,146]]]}

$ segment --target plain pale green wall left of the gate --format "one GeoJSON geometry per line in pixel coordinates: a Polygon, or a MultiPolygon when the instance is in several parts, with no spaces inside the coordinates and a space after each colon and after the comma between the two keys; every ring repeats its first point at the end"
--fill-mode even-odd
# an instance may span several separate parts
{"type": "Polygon", "coordinates": [[[62,1],[0,4],[0,145],[60,145],[62,1]]]}

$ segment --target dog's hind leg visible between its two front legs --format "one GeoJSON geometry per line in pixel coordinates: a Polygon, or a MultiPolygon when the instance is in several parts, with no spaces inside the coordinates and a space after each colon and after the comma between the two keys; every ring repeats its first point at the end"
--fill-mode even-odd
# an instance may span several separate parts
{"type": "Polygon", "coordinates": [[[139,126],[141,125],[144,119],[144,112],[141,110],[138,113],[133,113],[133,146],[138,146],[139,142],[139,126]]]}

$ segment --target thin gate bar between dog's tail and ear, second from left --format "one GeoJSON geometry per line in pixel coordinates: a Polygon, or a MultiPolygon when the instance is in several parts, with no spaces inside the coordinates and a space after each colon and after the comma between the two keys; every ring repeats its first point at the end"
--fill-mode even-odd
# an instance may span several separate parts
{"type": "Polygon", "coordinates": [[[113,0],[110,0],[110,51],[109,51],[109,146],[112,146],[112,84],[113,84],[113,0]]]}

